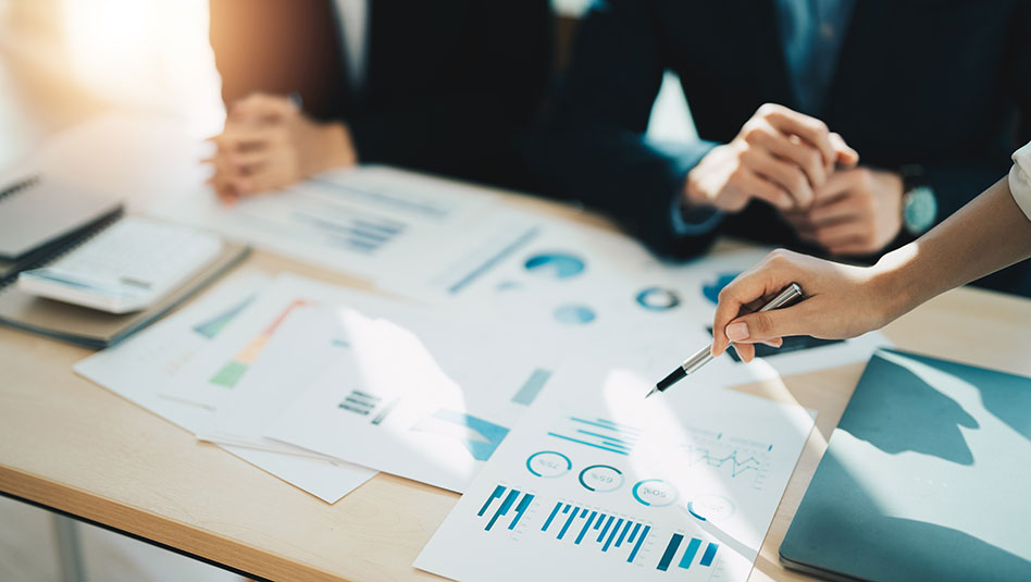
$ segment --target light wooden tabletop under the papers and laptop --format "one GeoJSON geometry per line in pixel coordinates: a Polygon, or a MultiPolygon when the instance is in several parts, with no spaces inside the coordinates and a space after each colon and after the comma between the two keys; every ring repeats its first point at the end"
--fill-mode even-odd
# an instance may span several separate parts
{"type": "MultiPolygon", "coordinates": [[[[243,268],[355,284],[266,252],[243,268]]],[[[1029,300],[957,289],[885,334],[903,348],[1031,375],[1029,300]]],[[[436,578],[411,562],[458,495],[380,474],[326,505],[76,376],[72,364],[88,355],[0,327],[0,492],[252,578],[436,578]]],[[[854,364],[740,388],[819,411],[751,580],[804,578],[781,567],[777,550],[861,371],[854,364]]]]}

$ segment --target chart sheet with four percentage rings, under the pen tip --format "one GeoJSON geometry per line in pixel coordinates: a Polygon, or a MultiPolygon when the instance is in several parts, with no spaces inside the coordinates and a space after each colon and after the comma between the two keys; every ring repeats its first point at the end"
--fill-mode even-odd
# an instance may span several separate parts
{"type": "Polygon", "coordinates": [[[560,369],[414,566],[462,581],[745,580],[813,422],[699,374],[644,399],[650,375],[560,369]]]}

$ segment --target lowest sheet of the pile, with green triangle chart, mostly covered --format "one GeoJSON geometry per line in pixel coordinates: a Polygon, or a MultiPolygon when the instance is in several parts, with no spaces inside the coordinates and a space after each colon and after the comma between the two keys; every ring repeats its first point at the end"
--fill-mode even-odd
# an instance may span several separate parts
{"type": "MultiPolygon", "coordinates": [[[[75,364],[84,377],[187,431],[211,422],[210,409],[159,395],[175,383],[184,367],[238,324],[239,314],[268,285],[268,277],[239,275],[195,304],[119,345],[75,364]]],[[[312,459],[253,448],[223,446],[233,455],[326,503],[335,503],[375,471],[338,460],[312,459]]]]}

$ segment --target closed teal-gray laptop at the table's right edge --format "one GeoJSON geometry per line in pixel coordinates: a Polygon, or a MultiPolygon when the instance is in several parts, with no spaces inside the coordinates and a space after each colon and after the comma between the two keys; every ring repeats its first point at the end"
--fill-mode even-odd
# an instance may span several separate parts
{"type": "Polygon", "coordinates": [[[1031,379],[878,351],[780,553],[833,579],[1031,581],[1031,379]]]}

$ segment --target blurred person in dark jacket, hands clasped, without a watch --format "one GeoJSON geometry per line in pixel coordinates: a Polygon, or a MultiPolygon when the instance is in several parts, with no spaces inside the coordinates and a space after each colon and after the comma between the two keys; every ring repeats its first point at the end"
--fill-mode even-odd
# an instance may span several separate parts
{"type": "Polygon", "coordinates": [[[547,0],[211,0],[233,201],[357,163],[518,185],[550,81],[547,0]]]}

